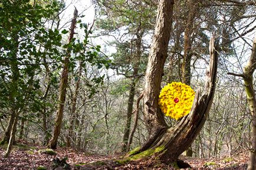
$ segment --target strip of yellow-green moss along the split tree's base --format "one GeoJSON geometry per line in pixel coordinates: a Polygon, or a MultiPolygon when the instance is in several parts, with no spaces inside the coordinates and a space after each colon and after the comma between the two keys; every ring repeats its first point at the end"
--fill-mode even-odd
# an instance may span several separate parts
{"type": "Polygon", "coordinates": [[[156,149],[147,149],[146,151],[140,152],[139,154],[116,160],[116,162],[117,162],[117,164],[126,164],[129,161],[146,158],[148,156],[152,156],[155,153],[162,152],[163,149],[165,149],[165,146],[159,146],[156,149]]]}

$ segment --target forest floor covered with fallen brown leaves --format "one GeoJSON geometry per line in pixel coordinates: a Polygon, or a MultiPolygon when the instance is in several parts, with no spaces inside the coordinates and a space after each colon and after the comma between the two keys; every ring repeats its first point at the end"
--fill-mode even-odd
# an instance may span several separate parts
{"type": "MultiPolygon", "coordinates": [[[[70,148],[58,148],[55,150],[56,155],[48,155],[40,152],[43,148],[31,144],[18,144],[14,146],[9,158],[3,158],[5,147],[2,146],[0,148],[0,169],[175,169],[171,165],[151,159],[120,165],[113,161],[120,155],[94,155],[70,148]]],[[[186,156],[181,156],[180,159],[192,166],[187,169],[231,170],[246,169],[248,156],[241,152],[222,159],[197,159],[186,156]]]]}

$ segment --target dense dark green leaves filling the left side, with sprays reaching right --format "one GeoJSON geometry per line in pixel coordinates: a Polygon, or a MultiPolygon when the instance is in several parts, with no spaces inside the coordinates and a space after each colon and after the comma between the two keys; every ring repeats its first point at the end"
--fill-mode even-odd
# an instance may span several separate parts
{"type": "MultiPolygon", "coordinates": [[[[4,113],[11,112],[11,108],[25,112],[23,118],[40,123],[43,109],[46,108],[47,116],[55,109],[57,94],[51,92],[48,99],[44,98],[44,86],[49,84],[58,88],[64,56],[71,54],[71,73],[75,72],[80,62],[83,68],[89,64],[101,69],[109,68],[111,61],[101,55],[99,45],[89,44],[91,30],[86,24],[80,24],[86,34],[84,39],[80,41],[73,38],[68,44],[62,42],[63,35],[68,34],[67,30],[60,31],[45,25],[47,22],[55,22],[55,16],[64,4],[55,0],[48,4],[28,2],[1,1],[0,108],[4,113]],[[46,81],[42,80],[44,75],[46,81]]],[[[102,84],[103,79],[104,75],[90,79],[89,97],[96,94],[97,84],[102,84]]],[[[0,114],[3,118],[9,116],[0,114]]]]}

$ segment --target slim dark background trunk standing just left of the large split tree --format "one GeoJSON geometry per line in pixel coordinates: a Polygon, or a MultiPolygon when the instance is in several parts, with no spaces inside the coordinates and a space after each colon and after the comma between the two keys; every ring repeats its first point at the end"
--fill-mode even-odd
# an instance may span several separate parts
{"type": "Polygon", "coordinates": [[[132,84],[130,85],[130,92],[129,92],[129,98],[128,98],[128,106],[127,106],[127,117],[126,117],[126,126],[124,128],[124,135],[123,135],[123,147],[122,151],[127,151],[127,144],[130,134],[130,126],[132,122],[132,112],[133,112],[133,102],[134,102],[134,95],[135,95],[135,86],[136,82],[139,79],[138,73],[139,73],[139,65],[140,65],[140,55],[141,55],[141,46],[142,46],[142,36],[143,31],[139,24],[136,32],[136,55],[133,61],[135,62],[133,65],[133,78],[132,78],[132,84]]]}

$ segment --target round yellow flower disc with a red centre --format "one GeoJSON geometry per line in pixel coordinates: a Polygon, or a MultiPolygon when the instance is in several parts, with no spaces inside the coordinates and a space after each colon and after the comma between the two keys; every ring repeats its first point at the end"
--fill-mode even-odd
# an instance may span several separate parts
{"type": "Polygon", "coordinates": [[[180,119],[191,111],[195,92],[182,82],[172,82],[162,88],[159,95],[159,106],[166,116],[180,119]]]}

